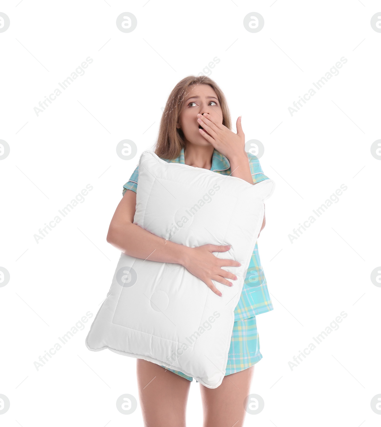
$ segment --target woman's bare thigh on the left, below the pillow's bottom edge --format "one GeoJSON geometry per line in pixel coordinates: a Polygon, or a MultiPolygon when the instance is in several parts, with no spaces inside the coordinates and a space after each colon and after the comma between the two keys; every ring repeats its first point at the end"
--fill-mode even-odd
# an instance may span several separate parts
{"type": "Polygon", "coordinates": [[[185,427],[191,382],[143,359],[137,359],[136,372],[144,426],[185,427]]]}

